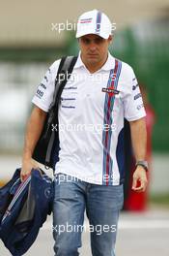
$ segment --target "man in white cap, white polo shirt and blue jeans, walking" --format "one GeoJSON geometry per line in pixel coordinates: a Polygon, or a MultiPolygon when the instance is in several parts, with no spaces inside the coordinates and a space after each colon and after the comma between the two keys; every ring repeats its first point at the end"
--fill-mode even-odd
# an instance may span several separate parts
{"type": "MultiPolygon", "coordinates": [[[[126,63],[108,52],[112,25],[97,10],[79,17],[80,52],[59,108],[59,162],[55,168],[53,236],[56,256],[79,255],[84,211],[90,222],[92,255],[112,256],[123,207],[124,116],[130,123],[137,166],[132,188],[144,191],[145,111],[137,81],[126,63]],[[61,129],[62,128],[62,129],[61,129]],[[140,181],[137,186],[137,181],[140,181]],[[62,229],[61,229],[62,228],[62,229]]],[[[21,177],[35,167],[32,153],[42,132],[60,60],[47,71],[28,122],[21,177]]]]}

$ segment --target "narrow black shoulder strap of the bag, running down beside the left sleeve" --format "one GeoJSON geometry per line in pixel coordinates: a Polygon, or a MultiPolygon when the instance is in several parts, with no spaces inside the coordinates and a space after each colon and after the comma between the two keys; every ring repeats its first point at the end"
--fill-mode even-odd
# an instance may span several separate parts
{"type": "MultiPolygon", "coordinates": [[[[58,108],[59,108],[61,94],[62,94],[62,91],[63,91],[64,86],[66,85],[68,79],[70,79],[70,75],[72,73],[72,70],[73,70],[76,60],[77,60],[76,56],[75,57],[68,56],[68,57],[62,58],[62,60],[60,62],[60,66],[59,66],[58,73],[57,73],[56,80],[55,80],[55,91],[54,91],[54,95],[53,95],[53,102],[52,102],[50,110],[49,110],[49,112],[51,114],[50,118],[48,118],[49,119],[49,122],[48,122],[49,129],[51,129],[52,122],[54,122],[56,120],[58,121],[58,108]],[[61,80],[61,75],[62,75],[62,80],[61,80]]],[[[46,156],[45,156],[46,166],[47,166],[47,163],[50,162],[54,141],[55,141],[55,131],[53,129],[52,133],[51,133],[50,140],[48,142],[46,156]]]]}

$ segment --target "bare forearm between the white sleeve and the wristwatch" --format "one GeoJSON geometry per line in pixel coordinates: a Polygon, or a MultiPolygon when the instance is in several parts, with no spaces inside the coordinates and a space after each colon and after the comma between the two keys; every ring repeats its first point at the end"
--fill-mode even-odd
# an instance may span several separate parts
{"type": "Polygon", "coordinates": [[[147,130],[145,118],[129,122],[131,141],[136,161],[145,160],[147,149],[147,130]]]}

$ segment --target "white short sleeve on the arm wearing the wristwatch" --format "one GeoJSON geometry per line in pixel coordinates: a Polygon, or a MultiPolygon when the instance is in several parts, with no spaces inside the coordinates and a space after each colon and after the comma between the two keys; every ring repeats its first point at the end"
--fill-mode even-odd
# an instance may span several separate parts
{"type": "Polygon", "coordinates": [[[125,117],[134,121],[146,116],[142,95],[133,70],[128,70],[127,90],[124,97],[125,117]]]}

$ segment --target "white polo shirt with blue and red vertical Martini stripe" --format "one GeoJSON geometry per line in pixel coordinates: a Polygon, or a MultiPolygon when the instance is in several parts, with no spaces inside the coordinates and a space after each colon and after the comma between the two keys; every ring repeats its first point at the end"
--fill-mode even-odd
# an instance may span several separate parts
{"type": "MultiPolygon", "coordinates": [[[[60,60],[55,61],[32,102],[47,112],[60,60]]],[[[146,115],[132,68],[110,53],[105,64],[90,74],[80,53],[61,95],[59,162],[55,173],[104,185],[124,182],[124,117],[146,115]]]]}

